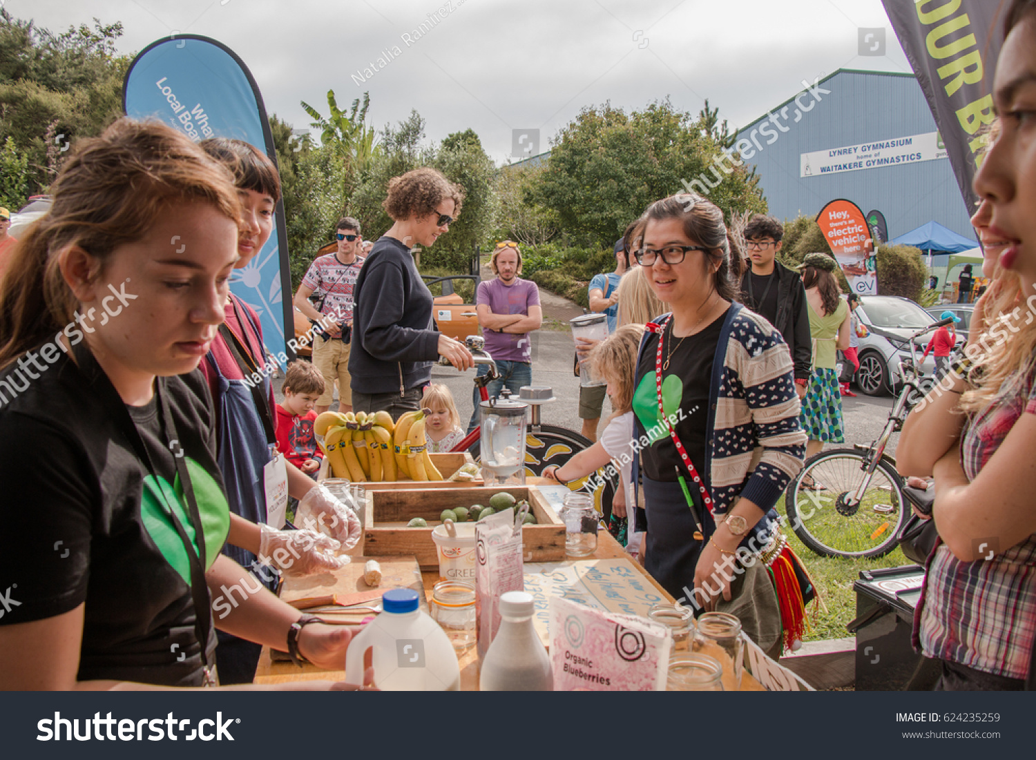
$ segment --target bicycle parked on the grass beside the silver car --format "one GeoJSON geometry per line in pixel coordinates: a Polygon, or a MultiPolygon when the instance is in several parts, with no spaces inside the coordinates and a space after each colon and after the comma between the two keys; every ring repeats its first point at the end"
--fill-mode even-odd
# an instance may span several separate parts
{"type": "Polygon", "coordinates": [[[911,355],[899,362],[902,388],[881,435],[869,446],[854,444],[811,457],[788,484],[784,507],[792,530],[822,557],[882,557],[898,545],[910,516],[904,499],[918,500],[904,490],[905,480],[885,448],[936,384],[918,372],[917,339],[949,321],[940,320],[908,339],[911,355]]]}

